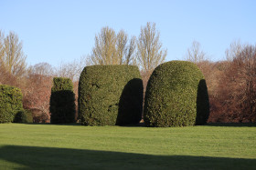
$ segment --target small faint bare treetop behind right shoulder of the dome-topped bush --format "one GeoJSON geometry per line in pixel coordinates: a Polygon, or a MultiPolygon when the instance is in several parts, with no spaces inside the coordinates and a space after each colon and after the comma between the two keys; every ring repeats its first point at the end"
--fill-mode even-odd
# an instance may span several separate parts
{"type": "Polygon", "coordinates": [[[187,49],[186,60],[195,64],[206,61],[206,53],[201,50],[201,45],[197,41],[193,41],[190,48],[187,49]]]}

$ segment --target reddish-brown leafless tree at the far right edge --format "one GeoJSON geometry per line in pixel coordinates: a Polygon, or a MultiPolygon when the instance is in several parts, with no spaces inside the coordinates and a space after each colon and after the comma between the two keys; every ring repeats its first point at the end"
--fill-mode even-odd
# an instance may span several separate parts
{"type": "Polygon", "coordinates": [[[236,55],[220,79],[219,101],[230,122],[256,122],[256,46],[241,46],[229,49],[236,55]]]}

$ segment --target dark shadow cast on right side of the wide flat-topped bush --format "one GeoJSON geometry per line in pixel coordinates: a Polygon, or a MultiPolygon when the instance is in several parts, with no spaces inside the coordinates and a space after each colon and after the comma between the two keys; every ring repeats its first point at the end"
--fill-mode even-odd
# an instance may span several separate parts
{"type": "Polygon", "coordinates": [[[142,119],[144,86],[140,78],[133,78],[123,88],[119,100],[116,125],[137,125],[142,119]]]}

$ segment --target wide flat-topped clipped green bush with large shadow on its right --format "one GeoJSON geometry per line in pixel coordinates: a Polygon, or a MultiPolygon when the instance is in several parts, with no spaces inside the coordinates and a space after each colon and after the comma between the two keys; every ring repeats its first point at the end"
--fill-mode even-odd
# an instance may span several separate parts
{"type": "Polygon", "coordinates": [[[138,124],[143,110],[143,82],[137,66],[92,65],[79,84],[82,125],[138,124]]]}

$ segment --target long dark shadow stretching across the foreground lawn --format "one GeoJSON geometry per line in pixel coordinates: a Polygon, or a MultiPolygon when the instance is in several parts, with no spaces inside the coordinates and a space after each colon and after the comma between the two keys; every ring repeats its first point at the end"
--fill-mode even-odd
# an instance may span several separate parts
{"type": "Polygon", "coordinates": [[[16,169],[255,169],[256,159],[5,145],[0,147],[0,163],[4,169],[12,164],[20,165],[16,169]]]}

